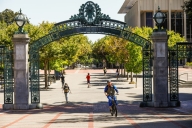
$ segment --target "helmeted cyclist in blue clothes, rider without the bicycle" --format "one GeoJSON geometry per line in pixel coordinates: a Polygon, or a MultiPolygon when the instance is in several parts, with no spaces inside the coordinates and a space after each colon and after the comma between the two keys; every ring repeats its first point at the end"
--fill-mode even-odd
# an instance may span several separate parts
{"type": "Polygon", "coordinates": [[[105,86],[104,94],[108,98],[108,104],[109,104],[110,111],[112,110],[112,107],[111,107],[112,106],[112,97],[114,97],[113,99],[115,101],[115,104],[117,105],[117,99],[114,96],[115,95],[115,91],[117,92],[117,94],[119,93],[119,91],[116,88],[116,86],[111,83],[111,80],[107,80],[107,85],[105,86]]]}

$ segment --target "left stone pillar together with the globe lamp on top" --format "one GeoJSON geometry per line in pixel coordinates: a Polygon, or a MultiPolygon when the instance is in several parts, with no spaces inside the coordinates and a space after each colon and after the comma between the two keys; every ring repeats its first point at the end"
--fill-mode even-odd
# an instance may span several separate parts
{"type": "MultiPolygon", "coordinates": [[[[13,109],[29,109],[37,108],[37,104],[29,105],[29,37],[23,31],[23,26],[26,22],[26,16],[20,12],[15,17],[15,22],[18,25],[18,31],[13,35],[13,50],[14,50],[14,104],[13,109]],[[22,66],[21,66],[22,65],[22,66]],[[22,74],[22,75],[21,75],[22,74]]],[[[32,76],[31,76],[32,77],[32,76]]],[[[32,86],[32,85],[31,85],[32,86]]],[[[31,92],[33,87],[31,87],[31,92]]],[[[38,94],[37,94],[38,95],[38,94]]],[[[32,96],[32,94],[31,94],[32,96]]],[[[39,99],[39,97],[33,97],[39,99]]],[[[32,101],[32,98],[31,98],[32,101]]]]}

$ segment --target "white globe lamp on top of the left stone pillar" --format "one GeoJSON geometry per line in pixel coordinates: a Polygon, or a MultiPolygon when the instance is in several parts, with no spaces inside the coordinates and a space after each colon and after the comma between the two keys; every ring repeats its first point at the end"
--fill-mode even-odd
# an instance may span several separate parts
{"type": "Polygon", "coordinates": [[[25,15],[22,14],[21,9],[19,14],[15,17],[15,22],[19,27],[16,34],[25,34],[25,32],[23,31],[23,26],[25,25],[26,18],[25,15]]]}

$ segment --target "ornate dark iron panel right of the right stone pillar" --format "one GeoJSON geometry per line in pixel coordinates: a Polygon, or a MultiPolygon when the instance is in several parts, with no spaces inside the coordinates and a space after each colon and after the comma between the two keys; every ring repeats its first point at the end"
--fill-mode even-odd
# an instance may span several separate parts
{"type": "Polygon", "coordinates": [[[192,43],[177,43],[169,50],[170,101],[179,101],[178,60],[192,58],[192,43]]]}

